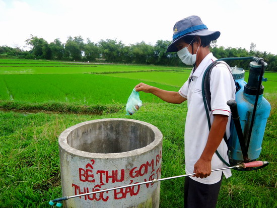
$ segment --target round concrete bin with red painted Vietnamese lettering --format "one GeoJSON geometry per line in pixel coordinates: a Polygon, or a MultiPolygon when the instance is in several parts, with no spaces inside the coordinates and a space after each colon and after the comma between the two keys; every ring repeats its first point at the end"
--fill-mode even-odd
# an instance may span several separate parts
{"type": "MultiPolygon", "coordinates": [[[[132,119],[99,119],[59,136],[63,196],[119,187],[161,176],[160,130],[132,119]]],[[[159,207],[160,182],[71,198],[65,207],[159,207]]]]}

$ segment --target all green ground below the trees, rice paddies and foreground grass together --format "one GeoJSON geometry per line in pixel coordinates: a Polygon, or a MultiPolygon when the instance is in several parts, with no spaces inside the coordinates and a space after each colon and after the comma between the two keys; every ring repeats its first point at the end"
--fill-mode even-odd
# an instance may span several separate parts
{"type": "MultiPolygon", "coordinates": [[[[178,91],[190,70],[0,59],[0,206],[51,207],[49,200],[62,196],[58,136],[88,120],[132,118],[157,126],[163,133],[162,178],[185,174],[186,102],[169,104],[140,93],[139,111],[127,116],[124,108],[138,83],[178,91]]],[[[277,73],[264,77],[271,113],[259,159],[270,164],[258,171],[233,170],[223,180],[217,207],[277,207],[277,73]]],[[[183,207],[183,183],[183,178],[161,182],[160,207],[183,207]]]]}

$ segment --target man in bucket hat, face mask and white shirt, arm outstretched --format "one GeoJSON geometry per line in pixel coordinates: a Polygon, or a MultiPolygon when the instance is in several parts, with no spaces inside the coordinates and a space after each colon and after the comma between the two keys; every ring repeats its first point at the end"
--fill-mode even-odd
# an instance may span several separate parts
{"type": "Polygon", "coordinates": [[[185,124],[185,171],[195,173],[185,178],[185,207],[215,207],[222,182],[222,174],[231,176],[230,170],[212,172],[212,169],[225,167],[215,154],[216,150],[228,161],[227,145],[223,140],[226,131],[230,135],[230,108],[228,100],[235,99],[236,87],[228,67],[217,64],[211,73],[210,112],[211,129],[207,124],[203,99],[203,73],[216,58],[210,52],[210,42],[220,36],[219,31],[209,31],[197,16],[178,21],[174,28],[173,42],[167,52],[175,52],[187,65],[193,65],[189,79],[179,92],[165,91],[140,83],[136,91],[152,93],[169,103],[180,104],[187,100],[185,124]]]}

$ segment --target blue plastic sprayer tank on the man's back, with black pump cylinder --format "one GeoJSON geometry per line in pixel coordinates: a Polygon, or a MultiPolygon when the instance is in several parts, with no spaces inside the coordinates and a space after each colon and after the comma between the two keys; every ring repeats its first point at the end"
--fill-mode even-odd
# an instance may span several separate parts
{"type": "MultiPolygon", "coordinates": [[[[264,68],[267,66],[265,63],[264,68]]],[[[261,72],[261,65],[257,62],[250,62],[250,71],[248,83],[244,81],[244,70],[242,68],[233,68],[232,74],[235,81],[239,84],[240,90],[236,93],[236,102],[238,114],[240,116],[240,123],[243,132],[245,145],[249,135],[250,123],[255,103],[256,94],[258,91],[258,79],[261,72]]],[[[263,80],[265,81],[265,80],[263,80]]],[[[270,104],[263,97],[263,86],[261,85],[259,91],[259,98],[257,102],[257,109],[253,123],[252,133],[248,148],[249,161],[256,160],[261,153],[261,144],[267,118],[270,113],[270,104]]],[[[235,164],[243,161],[243,155],[238,140],[236,128],[231,123],[231,136],[228,140],[229,146],[229,160],[230,163],[235,164]]]]}

